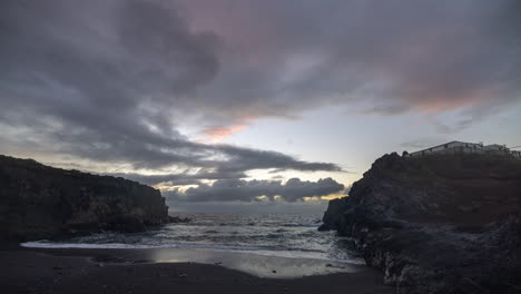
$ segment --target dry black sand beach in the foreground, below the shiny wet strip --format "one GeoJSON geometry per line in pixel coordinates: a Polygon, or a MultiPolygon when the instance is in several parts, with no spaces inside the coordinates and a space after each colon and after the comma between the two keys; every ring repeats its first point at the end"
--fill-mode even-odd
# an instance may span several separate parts
{"type": "Polygon", "coordinates": [[[287,280],[209,264],[107,263],[99,256],[115,255],[104,249],[2,248],[0,293],[393,293],[381,273],[365,266],[355,273],[287,280]]]}

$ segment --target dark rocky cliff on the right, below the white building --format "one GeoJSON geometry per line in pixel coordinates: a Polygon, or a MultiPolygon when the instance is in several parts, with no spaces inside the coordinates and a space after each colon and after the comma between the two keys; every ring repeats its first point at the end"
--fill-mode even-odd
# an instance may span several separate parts
{"type": "Polygon", "coordinates": [[[521,293],[521,160],[379,158],[322,229],[351,236],[397,293],[521,293]]]}

